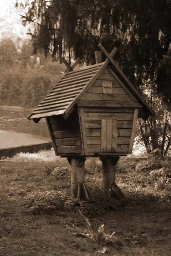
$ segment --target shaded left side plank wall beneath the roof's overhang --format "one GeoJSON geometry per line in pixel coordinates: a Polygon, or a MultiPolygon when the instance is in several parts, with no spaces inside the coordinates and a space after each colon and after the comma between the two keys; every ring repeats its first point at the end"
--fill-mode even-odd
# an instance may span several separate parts
{"type": "Polygon", "coordinates": [[[50,116],[53,137],[59,155],[81,154],[81,139],[77,110],[74,110],[67,119],[63,116],[50,116]]]}

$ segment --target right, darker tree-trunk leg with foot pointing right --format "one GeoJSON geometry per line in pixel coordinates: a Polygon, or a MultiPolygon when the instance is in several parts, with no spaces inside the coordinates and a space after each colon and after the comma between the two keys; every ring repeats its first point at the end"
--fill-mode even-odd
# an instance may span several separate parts
{"type": "Polygon", "coordinates": [[[100,157],[100,160],[103,168],[102,189],[117,200],[126,200],[124,193],[115,183],[116,164],[119,157],[100,157]]]}

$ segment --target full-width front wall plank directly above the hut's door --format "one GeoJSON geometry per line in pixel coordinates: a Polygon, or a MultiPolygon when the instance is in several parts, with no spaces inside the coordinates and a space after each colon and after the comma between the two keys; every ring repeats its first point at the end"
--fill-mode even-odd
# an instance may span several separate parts
{"type": "Polygon", "coordinates": [[[100,120],[100,119],[113,118],[118,120],[133,120],[133,113],[84,113],[85,120],[100,120]]]}

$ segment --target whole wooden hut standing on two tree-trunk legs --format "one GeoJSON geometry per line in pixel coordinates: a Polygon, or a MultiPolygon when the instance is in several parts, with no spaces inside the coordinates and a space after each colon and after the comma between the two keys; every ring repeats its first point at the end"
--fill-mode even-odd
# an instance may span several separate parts
{"type": "MultiPolygon", "coordinates": [[[[101,52],[96,52],[96,64],[88,67],[74,70],[79,60],[70,66],[63,58],[67,72],[28,116],[35,122],[46,118],[55,154],[67,157],[71,166],[68,194],[87,200],[86,157],[100,157],[103,189],[117,190],[115,166],[120,156],[132,153],[136,121],[154,115],[113,60],[117,49],[109,54],[101,44],[99,48],[107,59],[101,62],[101,52]]],[[[121,191],[115,194],[125,198],[121,191]]]]}

